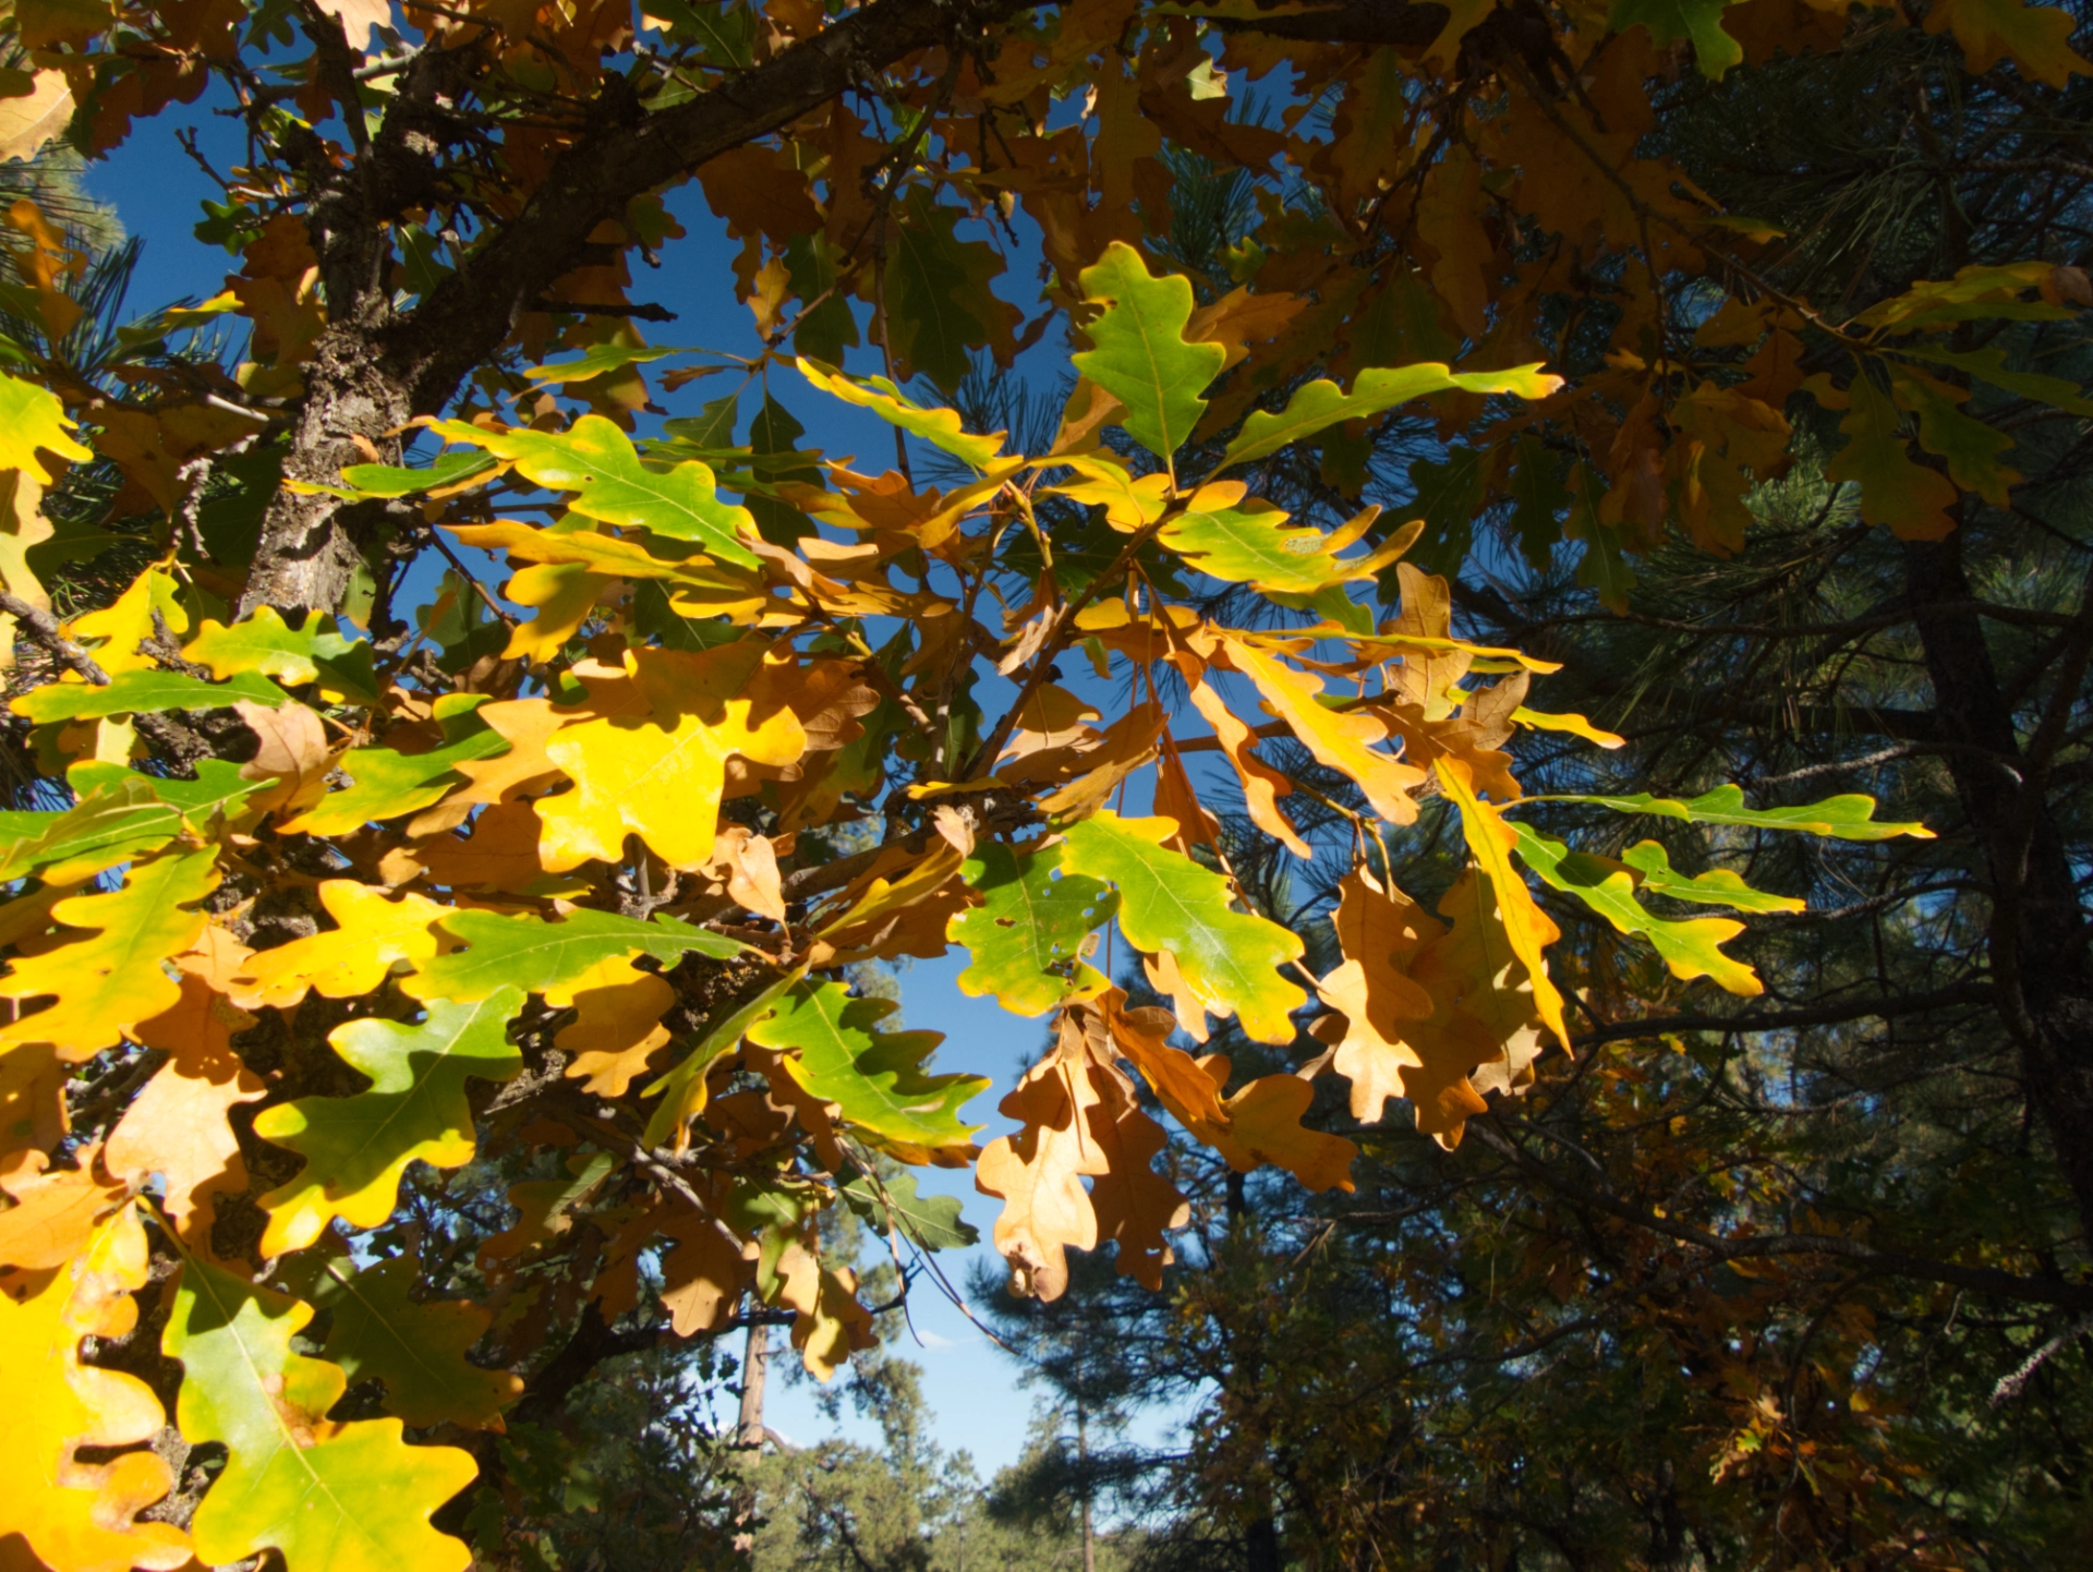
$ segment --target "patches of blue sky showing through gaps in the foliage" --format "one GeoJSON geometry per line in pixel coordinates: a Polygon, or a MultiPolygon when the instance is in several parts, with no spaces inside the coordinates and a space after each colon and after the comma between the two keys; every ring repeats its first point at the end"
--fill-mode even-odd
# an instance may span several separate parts
{"type": "MultiPolygon", "coordinates": [[[[224,249],[203,245],[193,234],[193,226],[203,216],[201,203],[220,193],[182,153],[176,130],[193,126],[203,151],[220,170],[241,157],[234,121],[211,115],[209,109],[211,98],[186,109],[172,107],[159,119],[142,121],[130,142],[88,170],[88,190],[113,203],[126,230],[144,239],[144,257],[130,299],[134,314],[182,295],[207,299],[224,287],[224,276],[239,266],[224,249]]],[[[760,347],[753,318],[733,293],[735,243],[724,239],[720,222],[705,207],[695,184],[674,193],[670,207],[682,220],[689,239],[670,243],[659,270],[638,270],[632,297],[659,301],[674,310],[678,320],[647,324],[647,337],[655,343],[753,354],[760,347]]],[[[1023,289],[1021,280],[1030,276],[1030,260],[1019,260],[1003,283],[1005,295],[1028,314],[1036,312],[1038,304],[1028,293],[1019,295],[1017,289],[1023,289]],[[1017,280],[1015,289],[1013,280],[1017,280]]],[[[875,352],[858,350],[854,354],[858,360],[850,366],[852,370],[879,368],[875,352]]],[[[1051,377],[1053,360],[1059,354],[1057,335],[1049,335],[1049,343],[1032,352],[1030,360],[1040,366],[1042,379],[1051,377]]],[[[714,383],[707,379],[682,394],[663,396],[657,391],[657,400],[674,412],[687,414],[695,412],[705,398],[718,396],[712,387],[714,383]]],[[[772,391],[808,427],[806,442],[810,446],[827,450],[831,458],[856,452],[862,465],[873,471],[892,467],[890,427],[869,414],[816,398],[791,375],[774,377],[772,391]]],[[[488,563],[488,580],[498,584],[500,578],[502,571],[488,563]]],[[[1000,678],[990,676],[982,682],[984,703],[994,703],[996,687],[1005,687],[1000,678]]],[[[938,1070],[980,1074],[994,1082],[994,1088],[967,1109],[969,1118],[988,1124],[977,1137],[986,1143],[1011,1128],[994,1111],[994,1105],[1015,1080],[1019,1061],[1038,1047],[1044,1028],[1040,1021],[1009,1015],[994,1001],[963,994],[952,980],[965,963],[963,950],[938,961],[915,961],[902,975],[902,1009],[910,1028],[944,1032],[946,1042],[938,1051],[938,1070]]],[[[984,1243],[975,1250],[963,1256],[940,1256],[946,1277],[965,1285],[975,1258],[994,1260],[988,1235],[998,1202],[973,1189],[971,1172],[927,1170],[921,1174],[921,1189],[959,1195],[967,1220],[982,1231],[984,1243]]],[[[904,1333],[900,1348],[904,1356],[923,1367],[923,1388],[936,1415],[933,1436],[938,1444],[946,1451],[971,1453],[982,1476],[992,1476],[998,1467],[1015,1461],[1023,1449],[1034,1405],[1032,1392],[1017,1384],[1017,1369],[1009,1356],[998,1352],[933,1285],[919,1283],[910,1296],[910,1319],[921,1342],[904,1333]]],[[[774,1379],[766,1398],[766,1419],[779,1434],[797,1444],[837,1432],[856,1440],[877,1440],[877,1432],[850,1417],[848,1411],[839,1425],[825,1419],[814,1405],[810,1382],[774,1379]]],[[[1134,1434],[1160,1440],[1166,1430],[1168,1419],[1155,1415],[1139,1423],[1134,1434]]]]}

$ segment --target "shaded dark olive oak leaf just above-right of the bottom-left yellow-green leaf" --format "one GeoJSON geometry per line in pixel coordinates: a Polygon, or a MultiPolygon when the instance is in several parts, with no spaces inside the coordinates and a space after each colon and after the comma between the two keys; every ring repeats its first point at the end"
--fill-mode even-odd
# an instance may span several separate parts
{"type": "Polygon", "coordinates": [[[486,1430],[523,1392],[509,1371],[481,1369],[465,1350],[486,1333],[492,1310],[471,1300],[414,1300],[412,1256],[356,1271],[343,1256],[299,1256],[283,1279],[333,1312],[327,1358],[352,1384],[385,1384],[385,1407],[414,1428],[458,1423],[486,1430]]]}

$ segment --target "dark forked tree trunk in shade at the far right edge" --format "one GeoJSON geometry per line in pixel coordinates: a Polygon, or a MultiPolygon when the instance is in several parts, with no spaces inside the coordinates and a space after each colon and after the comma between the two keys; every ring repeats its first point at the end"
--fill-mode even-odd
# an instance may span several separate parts
{"type": "MultiPolygon", "coordinates": [[[[1907,542],[1905,584],[1913,607],[1967,603],[1961,532],[1907,542]]],[[[1999,1013],[2020,1042],[2026,1095],[2078,1202],[2080,1227],[2093,1235],[2093,965],[2072,864],[2043,795],[2049,737],[2062,735],[2085,682],[2093,624],[2080,609],[2055,657],[2057,724],[2036,735],[2032,756],[2013,731],[1978,615],[1923,615],[1919,638],[1942,735],[1984,749],[1953,751],[1946,764],[1990,877],[1999,1013]]]]}

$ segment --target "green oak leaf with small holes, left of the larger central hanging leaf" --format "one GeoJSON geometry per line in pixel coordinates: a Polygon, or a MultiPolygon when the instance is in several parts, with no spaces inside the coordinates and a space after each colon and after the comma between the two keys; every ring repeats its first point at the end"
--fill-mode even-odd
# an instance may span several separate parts
{"type": "Polygon", "coordinates": [[[1061,873],[1057,852],[1017,856],[990,841],[961,869],[980,906],[952,917],[944,936],[965,944],[973,965],[959,973],[963,994],[994,994],[1013,1015],[1038,1015],[1061,1003],[1067,969],[1084,936],[1118,911],[1118,894],[1080,873],[1061,873]]]}

